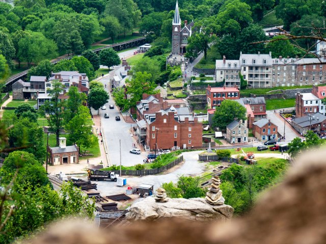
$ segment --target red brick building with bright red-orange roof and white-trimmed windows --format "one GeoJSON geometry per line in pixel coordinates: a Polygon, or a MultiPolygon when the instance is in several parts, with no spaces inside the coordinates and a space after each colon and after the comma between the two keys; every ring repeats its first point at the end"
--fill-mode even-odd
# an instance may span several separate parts
{"type": "Polygon", "coordinates": [[[240,91],[236,85],[234,87],[211,87],[206,88],[206,98],[208,108],[220,106],[225,99],[236,100],[240,98],[240,91]]]}

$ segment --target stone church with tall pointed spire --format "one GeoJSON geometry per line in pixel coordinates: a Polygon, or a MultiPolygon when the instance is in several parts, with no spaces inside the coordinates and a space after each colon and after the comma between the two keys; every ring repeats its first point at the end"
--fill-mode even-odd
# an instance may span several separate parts
{"type": "Polygon", "coordinates": [[[188,24],[187,20],[184,20],[184,26],[181,28],[181,19],[177,2],[172,21],[172,54],[181,54],[186,52],[185,48],[188,45],[188,38],[192,36],[193,26],[193,21],[188,24]]]}

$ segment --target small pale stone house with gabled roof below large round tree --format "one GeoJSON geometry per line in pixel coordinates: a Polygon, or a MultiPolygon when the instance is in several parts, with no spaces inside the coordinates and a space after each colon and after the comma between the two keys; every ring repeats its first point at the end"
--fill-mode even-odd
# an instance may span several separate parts
{"type": "Polygon", "coordinates": [[[248,142],[248,133],[246,126],[234,120],[226,127],[226,140],[229,143],[248,142]]]}

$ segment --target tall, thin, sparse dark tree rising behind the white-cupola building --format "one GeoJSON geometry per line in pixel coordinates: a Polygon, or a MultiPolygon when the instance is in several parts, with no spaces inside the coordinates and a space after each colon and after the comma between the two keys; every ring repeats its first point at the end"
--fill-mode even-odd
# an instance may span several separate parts
{"type": "Polygon", "coordinates": [[[63,92],[64,85],[58,81],[52,81],[52,89],[48,90],[51,101],[46,101],[41,106],[40,111],[47,114],[46,119],[49,123],[50,130],[56,133],[57,146],[59,146],[60,130],[63,128],[63,116],[65,101],[59,100],[60,94],[63,92]]]}

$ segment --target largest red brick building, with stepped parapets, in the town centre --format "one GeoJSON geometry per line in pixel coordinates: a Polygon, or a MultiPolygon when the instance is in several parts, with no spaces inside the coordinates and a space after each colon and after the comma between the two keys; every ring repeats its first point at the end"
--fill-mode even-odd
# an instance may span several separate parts
{"type": "Polygon", "coordinates": [[[151,150],[202,146],[203,125],[198,118],[189,114],[188,108],[174,108],[147,114],[146,144],[151,150]],[[186,111],[187,110],[187,111],[186,111]]]}

